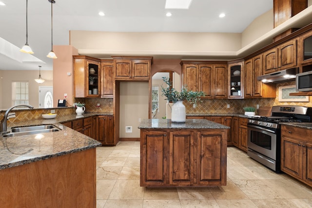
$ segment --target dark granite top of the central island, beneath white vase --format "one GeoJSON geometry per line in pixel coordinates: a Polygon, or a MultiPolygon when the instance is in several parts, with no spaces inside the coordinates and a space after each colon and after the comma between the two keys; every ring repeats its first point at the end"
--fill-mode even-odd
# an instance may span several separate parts
{"type": "Polygon", "coordinates": [[[171,119],[143,119],[139,129],[230,129],[206,119],[186,119],[185,123],[173,123],[171,119]]]}

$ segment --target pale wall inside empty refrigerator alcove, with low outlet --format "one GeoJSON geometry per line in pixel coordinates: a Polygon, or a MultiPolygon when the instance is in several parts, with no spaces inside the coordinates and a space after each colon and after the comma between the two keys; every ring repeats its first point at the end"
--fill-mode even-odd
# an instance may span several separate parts
{"type": "Polygon", "coordinates": [[[149,88],[147,82],[120,82],[119,137],[139,138],[138,119],[148,118],[149,88]],[[126,133],[132,126],[132,133],[126,133]]]}

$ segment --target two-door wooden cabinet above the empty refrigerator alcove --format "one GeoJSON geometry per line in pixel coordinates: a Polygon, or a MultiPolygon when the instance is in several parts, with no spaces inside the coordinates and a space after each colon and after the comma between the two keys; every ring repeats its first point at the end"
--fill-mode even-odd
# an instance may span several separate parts
{"type": "Polygon", "coordinates": [[[153,57],[112,57],[114,59],[115,79],[151,79],[153,57]]]}

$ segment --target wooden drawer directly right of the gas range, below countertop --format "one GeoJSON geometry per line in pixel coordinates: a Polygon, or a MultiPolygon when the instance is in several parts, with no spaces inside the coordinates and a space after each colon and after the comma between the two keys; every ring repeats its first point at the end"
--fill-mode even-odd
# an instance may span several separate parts
{"type": "Polygon", "coordinates": [[[300,141],[309,141],[311,140],[312,130],[301,129],[297,127],[291,127],[286,125],[281,125],[281,134],[282,136],[291,137],[298,139],[300,141]]]}

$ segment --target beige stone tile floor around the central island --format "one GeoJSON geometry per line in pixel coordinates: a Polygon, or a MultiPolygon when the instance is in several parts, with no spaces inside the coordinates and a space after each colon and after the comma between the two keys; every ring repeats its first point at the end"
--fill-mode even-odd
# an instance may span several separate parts
{"type": "Polygon", "coordinates": [[[312,188],[228,147],[227,186],[144,188],[139,142],[97,148],[97,208],[312,208],[312,188]]]}

